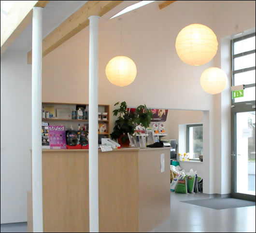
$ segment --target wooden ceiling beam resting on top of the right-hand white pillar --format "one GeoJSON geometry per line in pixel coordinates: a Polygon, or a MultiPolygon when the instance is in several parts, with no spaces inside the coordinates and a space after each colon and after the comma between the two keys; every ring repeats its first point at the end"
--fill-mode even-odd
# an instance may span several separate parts
{"type": "MultiPolygon", "coordinates": [[[[68,41],[76,33],[89,25],[88,17],[91,15],[102,16],[120,4],[122,0],[89,0],[68,17],[63,23],[50,32],[42,44],[43,57],[65,41],[68,41]]],[[[28,52],[28,64],[32,63],[32,50],[28,52]]]]}

